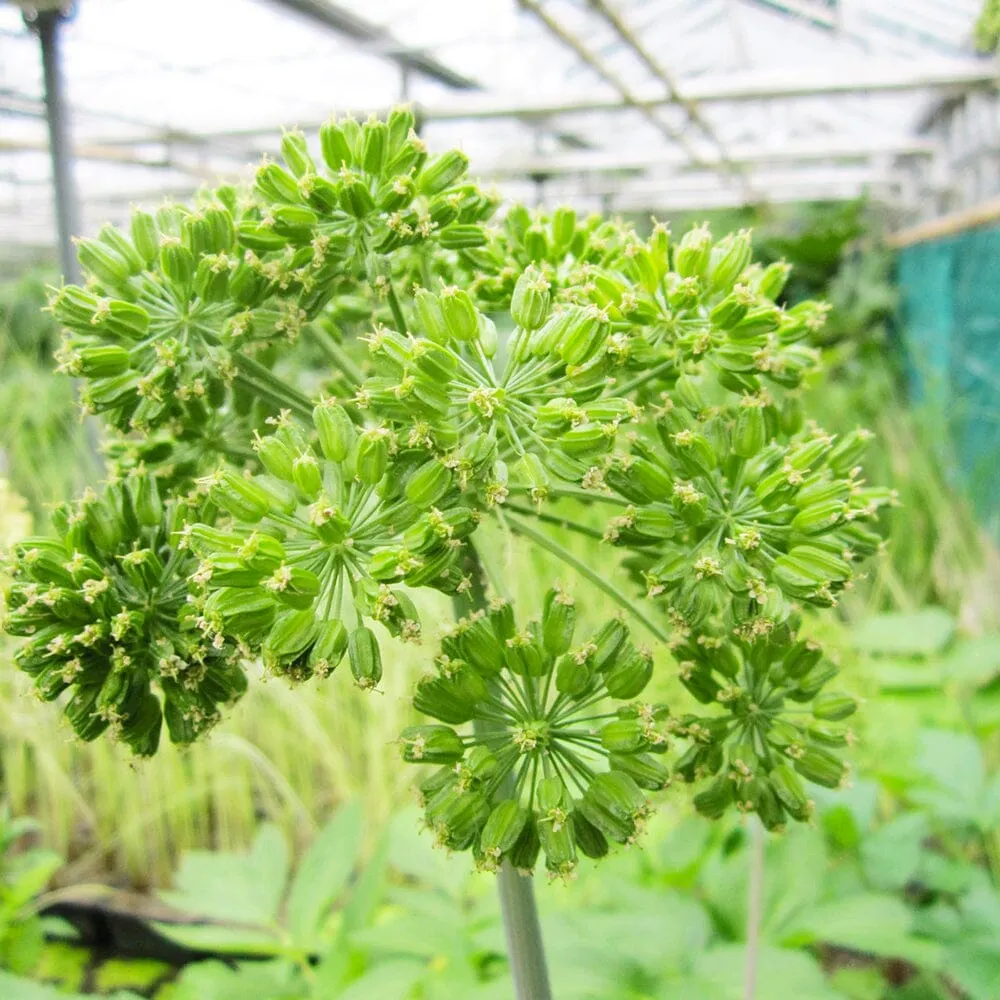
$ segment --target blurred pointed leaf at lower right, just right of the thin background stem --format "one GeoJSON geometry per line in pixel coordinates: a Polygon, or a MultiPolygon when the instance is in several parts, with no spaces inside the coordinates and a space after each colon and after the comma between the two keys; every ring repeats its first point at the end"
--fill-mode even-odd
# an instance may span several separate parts
{"type": "Polygon", "coordinates": [[[861,893],[800,916],[787,944],[824,943],[879,958],[902,958],[920,968],[941,965],[941,946],[910,933],[913,914],[899,898],[861,893]]]}

